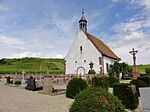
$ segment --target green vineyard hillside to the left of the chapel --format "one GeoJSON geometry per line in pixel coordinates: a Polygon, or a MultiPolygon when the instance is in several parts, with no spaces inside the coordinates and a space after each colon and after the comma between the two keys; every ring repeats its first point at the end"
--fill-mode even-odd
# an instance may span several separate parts
{"type": "Polygon", "coordinates": [[[0,60],[0,74],[10,74],[22,71],[26,73],[64,73],[63,59],[15,58],[0,60]]]}

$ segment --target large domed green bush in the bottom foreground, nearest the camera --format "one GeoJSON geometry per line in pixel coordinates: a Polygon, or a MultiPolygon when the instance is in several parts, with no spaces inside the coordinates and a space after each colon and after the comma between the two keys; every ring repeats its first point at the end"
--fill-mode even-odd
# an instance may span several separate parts
{"type": "Polygon", "coordinates": [[[121,101],[103,88],[82,91],[71,105],[69,112],[125,112],[121,101]]]}

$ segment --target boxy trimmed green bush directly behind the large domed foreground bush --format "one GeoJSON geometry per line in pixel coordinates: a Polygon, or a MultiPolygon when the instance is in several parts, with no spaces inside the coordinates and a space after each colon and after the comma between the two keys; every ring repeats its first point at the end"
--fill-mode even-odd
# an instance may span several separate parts
{"type": "Polygon", "coordinates": [[[106,76],[95,76],[92,78],[92,87],[102,87],[108,90],[109,81],[106,76]]]}

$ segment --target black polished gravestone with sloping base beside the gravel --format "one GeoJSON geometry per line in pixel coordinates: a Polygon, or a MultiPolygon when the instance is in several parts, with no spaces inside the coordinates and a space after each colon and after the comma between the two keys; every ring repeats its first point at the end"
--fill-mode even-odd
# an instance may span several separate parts
{"type": "Polygon", "coordinates": [[[32,90],[32,91],[37,91],[37,90],[42,90],[43,87],[38,85],[35,82],[35,78],[33,78],[32,76],[30,76],[30,78],[27,80],[27,86],[25,87],[25,89],[27,90],[32,90]]]}

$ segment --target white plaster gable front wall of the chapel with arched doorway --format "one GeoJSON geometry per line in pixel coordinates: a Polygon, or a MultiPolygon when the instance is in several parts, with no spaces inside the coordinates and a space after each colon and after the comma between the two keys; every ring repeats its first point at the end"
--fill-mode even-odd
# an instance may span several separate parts
{"type": "Polygon", "coordinates": [[[66,60],[66,74],[77,74],[78,67],[85,68],[85,74],[90,70],[89,63],[94,63],[93,69],[99,73],[99,57],[101,53],[95,48],[91,41],[86,37],[82,30],[79,30],[77,36],[65,57],[66,60]],[[80,52],[82,46],[82,52],[80,52]],[[84,62],[86,60],[86,62],[84,62]],[[77,61],[77,63],[75,63],[77,61]]]}

